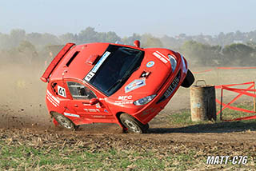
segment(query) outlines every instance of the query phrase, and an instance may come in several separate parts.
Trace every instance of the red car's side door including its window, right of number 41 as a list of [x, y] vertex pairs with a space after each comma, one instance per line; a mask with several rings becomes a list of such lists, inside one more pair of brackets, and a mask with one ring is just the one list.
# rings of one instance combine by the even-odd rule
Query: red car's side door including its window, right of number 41
[[68, 104], [69, 109], [91, 122], [112, 122], [109, 120], [113, 120], [114, 117], [101, 94], [95, 93], [81, 82], [66, 81], [66, 85], [73, 98]]

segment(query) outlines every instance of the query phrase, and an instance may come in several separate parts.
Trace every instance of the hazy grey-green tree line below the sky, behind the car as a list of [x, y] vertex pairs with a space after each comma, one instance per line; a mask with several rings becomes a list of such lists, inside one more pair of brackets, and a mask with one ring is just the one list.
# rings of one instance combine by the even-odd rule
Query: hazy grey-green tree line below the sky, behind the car
[[0, 33], [0, 58], [6, 62], [49, 61], [66, 42], [76, 44], [90, 42], [111, 42], [133, 45], [140, 40], [142, 47], [160, 47], [176, 50], [183, 54], [190, 66], [256, 66], [256, 30], [217, 36], [154, 37], [152, 34], [132, 34], [120, 38], [115, 32], [97, 32], [87, 27], [78, 34], [26, 34], [25, 30], [11, 30], [10, 34]]

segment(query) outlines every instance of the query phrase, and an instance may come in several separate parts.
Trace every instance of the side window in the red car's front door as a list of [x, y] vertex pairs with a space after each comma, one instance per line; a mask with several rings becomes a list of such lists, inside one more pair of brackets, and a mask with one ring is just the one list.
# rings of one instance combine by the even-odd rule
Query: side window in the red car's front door
[[96, 98], [94, 92], [78, 82], [67, 82], [67, 86], [69, 87], [70, 93], [74, 99]]

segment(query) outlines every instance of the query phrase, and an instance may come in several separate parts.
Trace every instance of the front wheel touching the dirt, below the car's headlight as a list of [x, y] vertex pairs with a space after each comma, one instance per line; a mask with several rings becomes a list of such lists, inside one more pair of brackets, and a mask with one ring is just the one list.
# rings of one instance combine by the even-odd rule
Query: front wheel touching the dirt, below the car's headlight
[[120, 116], [120, 121], [124, 125], [128, 132], [130, 133], [146, 133], [146, 130], [149, 128], [149, 125], [143, 125], [140, 121], [130, 116], [130, 114], [122, 113]]

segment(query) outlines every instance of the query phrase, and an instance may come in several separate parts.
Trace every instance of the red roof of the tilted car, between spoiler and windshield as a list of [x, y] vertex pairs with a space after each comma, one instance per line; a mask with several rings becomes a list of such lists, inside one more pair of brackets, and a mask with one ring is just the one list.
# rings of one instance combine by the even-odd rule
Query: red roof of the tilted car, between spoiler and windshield
[[[92, 55], [102, 56], [110, 44], [111, 43], [89, 43], [73, 46], [70, 51], [65, 54], [61, 62], [58, 63], [58, 66], [54, 69], [50, 79], [62, 79], [63, 77], [82, 80], [94, 67], [94, 65], [86, 62], [87, 59]], [[125, 46], [120, 44], [111, 45]], [[141, 48], [134, 46], [126, 47], [142, 50]]]

